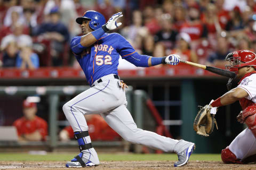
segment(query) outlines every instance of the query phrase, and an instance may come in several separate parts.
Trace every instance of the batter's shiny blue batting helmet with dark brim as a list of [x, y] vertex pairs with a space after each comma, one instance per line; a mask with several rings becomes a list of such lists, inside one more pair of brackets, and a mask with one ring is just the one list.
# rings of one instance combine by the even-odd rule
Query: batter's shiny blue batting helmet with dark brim
[[82, 24], [84, 20], [90, 20], [89, 27], [93, 30], [99, 29], [106, 23], [104, 16], [97, 11], [86, 11], [82, 17], [76, 19], [76, 22]]

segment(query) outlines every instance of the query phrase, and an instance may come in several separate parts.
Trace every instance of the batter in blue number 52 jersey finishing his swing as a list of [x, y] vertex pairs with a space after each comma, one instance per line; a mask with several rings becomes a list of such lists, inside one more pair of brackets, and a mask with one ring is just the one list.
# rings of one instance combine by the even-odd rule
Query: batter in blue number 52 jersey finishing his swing
[[182, 166], [195, 147], [185, 140], [174, 140], [154, 132], [137, 128], [127, 110], [125, 88], [117, 73], [119, 55], [136, 66], [149, 67], [158, 64], [177, 65], [178, 55], [150, 57], [138, 54], [124, 37], [118, 33], [106, 33], [122, 23], [117, 23], [122, 12], [114, 14], [106, 23], [104, 16], [96, 11], [86, 11], [76, 22], [81, 24], [83, 36], [71, 40], [71, 49], [81, 65], [91, 88], [82, 92], [63, 106], [67, 120], [72, 126], [81, 151], [66, 167], [85, 167], [99, 165], [97, 152], [94, 150], [84, 114], [101, 114], [108, 125], [127, 141], [176, 152]]

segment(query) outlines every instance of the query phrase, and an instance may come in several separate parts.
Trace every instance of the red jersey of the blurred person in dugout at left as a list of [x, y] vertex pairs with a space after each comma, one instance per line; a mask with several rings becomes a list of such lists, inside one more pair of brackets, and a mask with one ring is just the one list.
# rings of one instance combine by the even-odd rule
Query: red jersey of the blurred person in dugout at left
[[21, 117], [13, 123], [13, 126], [17, 128], [18, 135], [30, 134], [38, 130], [42, 135], [42, 139], [45, 140], [47, 132], [47, 122], [43, 118], [35, 116], [34, 120], [27, 120], [25, 117]]

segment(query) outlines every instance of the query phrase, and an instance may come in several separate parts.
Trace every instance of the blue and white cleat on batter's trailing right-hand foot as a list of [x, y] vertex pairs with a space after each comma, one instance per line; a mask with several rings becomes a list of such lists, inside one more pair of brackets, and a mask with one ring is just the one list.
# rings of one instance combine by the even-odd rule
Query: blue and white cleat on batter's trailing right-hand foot
[[178, 162], [174, 163], [174, 167], [183, 166], [188, 163], [190, 155], [193, 153], [193, 150], [196, 148], [195, 143], [192, 143], [188, 148], [182, 150], [178, 153]]

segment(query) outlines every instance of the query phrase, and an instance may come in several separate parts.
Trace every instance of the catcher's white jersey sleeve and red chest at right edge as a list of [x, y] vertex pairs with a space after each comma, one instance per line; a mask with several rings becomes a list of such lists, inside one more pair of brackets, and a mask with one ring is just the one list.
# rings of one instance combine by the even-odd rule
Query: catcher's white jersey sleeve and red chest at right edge
[[240, 80], [238, 88], [244, 89], [248, 96], [239, 100], [242, 109], [256, 103], [256, 71], [245, 74]]

